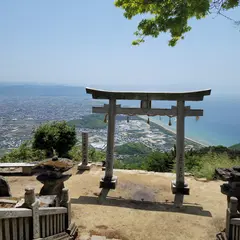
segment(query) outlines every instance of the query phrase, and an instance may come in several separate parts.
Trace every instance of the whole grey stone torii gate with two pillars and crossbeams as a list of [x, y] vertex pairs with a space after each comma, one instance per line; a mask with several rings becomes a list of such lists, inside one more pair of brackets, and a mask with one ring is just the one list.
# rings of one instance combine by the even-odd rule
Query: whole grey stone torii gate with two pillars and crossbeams
[[[108, 135], [105, 176], [100, 180], [100, 188], [115, 189], [117, 177], [113, 176], [114, 132], [116, 114], [171, 116], [177, 117], [177, 141], [176, 141], [176, 181], [172, 182], [172, 192], [176, 194], [175, 202], [182, 204], [183, 195], [189, 195], [188, 184], [184, 181], [184, 121], [185, 117], [203, 116], [203, 110], [191, 109], [185, 106], [185, 101], [202, 101], [204, 96], [211, 94], [211, 90], [194, 92], [113, 92], [86, 88], [86, 92], [93, 99], [108, 99], [109, 104], [103, 107], [93, 107], [93, 113], [108, 114]], [[140, 108], [123, 108], [117, 105], [117, 100], [140, 100]], [[152, 108], [153, 100], [176, 101], [177, 106], [167, 108]], [[177, 199], [176, 199], [177, 197]]]

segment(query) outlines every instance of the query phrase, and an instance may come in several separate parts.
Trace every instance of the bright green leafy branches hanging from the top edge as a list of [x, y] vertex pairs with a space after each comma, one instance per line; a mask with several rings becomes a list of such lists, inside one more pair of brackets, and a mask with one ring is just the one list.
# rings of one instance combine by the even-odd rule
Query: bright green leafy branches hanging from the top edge
[[238, 7], [239, 0], [115, 0], [115, 5], [124, 10], [127, 19], [143, 14], [148, 17], [138, 24], [135, 32], [138, 39], [133, 41], [133, 45], [144, 42], [146, 36], [157, 38], [160, 33], [169, 32], [169, 45], [175, 46], [191, 30], [189, 19], [201, 19], [212, 13], [220, 14], [240, 25], [240, 21], [224, 14], [224, 11]]

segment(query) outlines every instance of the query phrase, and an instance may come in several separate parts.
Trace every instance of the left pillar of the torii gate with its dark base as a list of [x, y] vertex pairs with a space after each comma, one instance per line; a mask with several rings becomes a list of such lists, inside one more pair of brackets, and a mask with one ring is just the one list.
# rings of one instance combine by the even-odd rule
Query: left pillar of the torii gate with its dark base
[[113, 176], [114, 134], [116, 118], [116, 99], [109, 99], [108, 136], [105, 176], [100, 180], [100, 188], [115, 189], [117, 177]]

